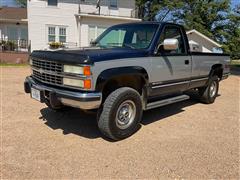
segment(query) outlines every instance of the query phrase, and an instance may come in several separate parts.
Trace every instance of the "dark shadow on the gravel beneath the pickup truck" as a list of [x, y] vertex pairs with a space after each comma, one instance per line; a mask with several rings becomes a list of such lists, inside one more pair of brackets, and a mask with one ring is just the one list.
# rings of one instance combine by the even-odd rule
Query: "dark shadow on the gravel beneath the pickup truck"
[[[156, 121], [162, 121], [167, 117], [184, 112], [183, 109], [185, 107], [197, 103], [198, 101], [194, 98], [146, 111], [143, 113], [141, 125], [146, 126]], [[63, 130], [64, 135], [75, 134], [89, 139], [103, 137], [98, 130], [96, 113], [86, 113], [74, 108], [62, 112], [54, 112], [49, 108], [43, 108], [40, 112], [42, 116], [39, 119], [43, 120], [45, 125], [53, 130]], [[140, 128], [141, 127], [139, 127], [139, 129]], [[109, 139], [106, 140], [111, 141]]]

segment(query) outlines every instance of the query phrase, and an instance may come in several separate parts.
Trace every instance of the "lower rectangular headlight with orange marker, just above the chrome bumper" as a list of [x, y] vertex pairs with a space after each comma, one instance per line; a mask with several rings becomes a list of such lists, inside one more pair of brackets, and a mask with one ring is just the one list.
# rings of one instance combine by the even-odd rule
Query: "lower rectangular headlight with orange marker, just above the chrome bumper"
[[67, 86], [80, 87], [83, 89], [91, 89], [92, 82], [91, 82], [91, 79], [80, 80], [80, 79], [63, 78], [63, 84]]

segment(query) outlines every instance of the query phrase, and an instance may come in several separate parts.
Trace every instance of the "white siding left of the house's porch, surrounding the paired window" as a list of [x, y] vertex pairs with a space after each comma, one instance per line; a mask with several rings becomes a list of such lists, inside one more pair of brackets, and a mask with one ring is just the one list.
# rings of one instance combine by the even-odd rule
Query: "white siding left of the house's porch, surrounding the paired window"
[[48, 47], [48, 26], [65, 26], [67, 42], [78, 43], [78, 29], [74, 14], [78, 6], [70, 3], [58, 3], [57, 7], [47, 6], [47, 1], [28, 1], [28, 27], [31, 49]]

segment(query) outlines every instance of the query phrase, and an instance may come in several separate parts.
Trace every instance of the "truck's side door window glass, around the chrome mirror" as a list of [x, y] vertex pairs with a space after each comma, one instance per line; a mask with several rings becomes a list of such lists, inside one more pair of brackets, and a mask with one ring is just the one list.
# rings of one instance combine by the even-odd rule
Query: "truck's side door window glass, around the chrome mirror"
[[[177, 39], [178, 40], [178, 49], [174, 51], [166, 51], [163, 48], [163, 42], [165, 39]], [[164, 54], [185, 54], [186, 53], [186, 48], [184, 46], [184, 39], [183, 35], [181, 33], [181, 29], [176, 26], [166, 26], [165, 29], [163, 30], [160, 40], [159, 40], [159, 45], [158, 45], [159, 53], [164, 53]]]

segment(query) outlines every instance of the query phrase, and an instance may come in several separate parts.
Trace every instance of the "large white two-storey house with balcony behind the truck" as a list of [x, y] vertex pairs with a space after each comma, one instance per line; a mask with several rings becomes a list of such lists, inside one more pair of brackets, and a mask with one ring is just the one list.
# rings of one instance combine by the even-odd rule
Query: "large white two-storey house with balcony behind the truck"
[[114, 24], [140, 21], [135, 14], [135, 0], [28, 0], [31, 50], [47, 49], [51, 42], [88, 46]]

